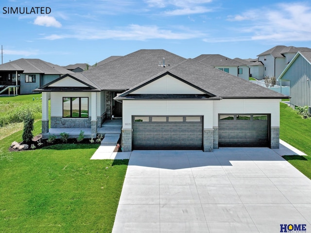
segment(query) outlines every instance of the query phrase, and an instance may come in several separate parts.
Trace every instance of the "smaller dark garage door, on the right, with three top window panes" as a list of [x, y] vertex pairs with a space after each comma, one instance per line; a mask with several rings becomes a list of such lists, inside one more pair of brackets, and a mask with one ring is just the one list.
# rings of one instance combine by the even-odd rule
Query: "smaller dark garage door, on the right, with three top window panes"
[[219, 147], [269, 147], [269, 117], [267, 114], [219, 115]]

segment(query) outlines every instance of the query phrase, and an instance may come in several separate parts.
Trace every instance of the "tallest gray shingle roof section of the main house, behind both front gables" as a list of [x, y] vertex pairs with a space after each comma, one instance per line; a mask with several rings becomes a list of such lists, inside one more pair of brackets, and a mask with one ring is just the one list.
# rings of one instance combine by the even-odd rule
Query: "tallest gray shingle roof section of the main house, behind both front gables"
[[166, 50], [138, 50], [126, 56], [82, 72], [103, 90], [126, 90], [186, 59]]

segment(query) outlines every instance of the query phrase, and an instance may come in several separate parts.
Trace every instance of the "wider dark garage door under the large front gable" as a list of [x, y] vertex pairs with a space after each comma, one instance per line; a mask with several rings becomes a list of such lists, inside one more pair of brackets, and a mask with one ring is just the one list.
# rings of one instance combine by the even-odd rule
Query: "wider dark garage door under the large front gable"
[[203, 116], [133, 116], [134, 150], [202, 150]]

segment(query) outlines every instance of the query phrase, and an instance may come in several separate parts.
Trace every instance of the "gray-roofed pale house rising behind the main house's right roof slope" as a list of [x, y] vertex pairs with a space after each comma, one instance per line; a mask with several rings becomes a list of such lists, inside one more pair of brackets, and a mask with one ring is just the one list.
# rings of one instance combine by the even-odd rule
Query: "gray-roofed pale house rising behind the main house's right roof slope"
[[238, 76], [244, 80], [249, 80], [249, 67], [239, 61], [230, 59], [220, 54], [202, 54], [194, 58], [208, 66], [220, 69], [229, 74]]

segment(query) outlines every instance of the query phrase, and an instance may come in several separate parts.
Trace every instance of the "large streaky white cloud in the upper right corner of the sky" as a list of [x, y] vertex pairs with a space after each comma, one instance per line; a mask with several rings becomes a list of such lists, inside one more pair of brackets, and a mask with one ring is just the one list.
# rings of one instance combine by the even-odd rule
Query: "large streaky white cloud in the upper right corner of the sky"
[[[232, 22], [227, 28], [228, 37], [206, 38], [206, 42], [244, 40], [286, 41], [311, 40], [311, 5], [307, 2], [282, 3], [269, 8], [251, 9], [243, 14], [228, 16]], [[229, 31], [238, 34], [230, 36]]]

